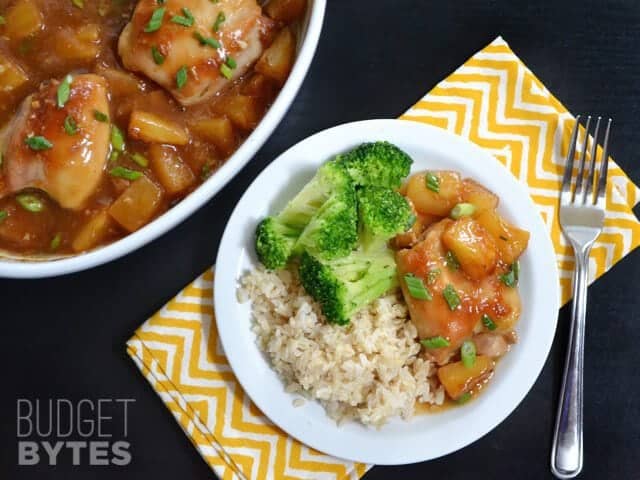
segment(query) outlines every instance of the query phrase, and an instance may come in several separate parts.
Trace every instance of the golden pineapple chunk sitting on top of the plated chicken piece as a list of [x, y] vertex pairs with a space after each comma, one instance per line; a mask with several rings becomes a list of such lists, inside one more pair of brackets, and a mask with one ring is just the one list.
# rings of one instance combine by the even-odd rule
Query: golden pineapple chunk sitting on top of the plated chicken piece
[[480, 280], [496, 268], [498, 250], [485, 228], [470, 217], [453, 222], [442, 234], [442, 243], [453, 252], [464, 273]]

